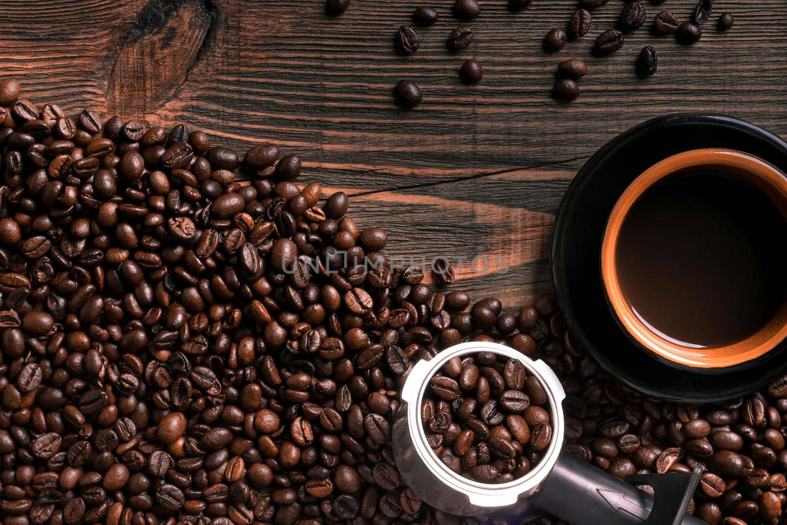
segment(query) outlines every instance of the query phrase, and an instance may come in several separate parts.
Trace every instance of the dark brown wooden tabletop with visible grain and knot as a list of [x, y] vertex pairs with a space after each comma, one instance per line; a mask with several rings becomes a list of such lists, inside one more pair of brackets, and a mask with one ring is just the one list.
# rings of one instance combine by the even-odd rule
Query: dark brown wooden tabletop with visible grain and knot
[[[719, 33], [714, 16], [691, 47], [647, 27], [661, 9], [688, 18], [693, 0], [645, 2], [646, 27], [603, 58], [589, 50], [615, 24], [619, 0], [595, 9], [589, 35], [556, 54], [541, 38], [564, 26], [575, 1], [535, 0], [521, 13], [505, 0], [481, 3], [474, 43], [451, 53], [453, 0], [353, 0], [336, 19], [323, 0], [3, 0], [0, 76], [68, 113], [91, 105], [184, 122], [238, 150], [275, 142], [305, 161], [302, 180], [357, 194], [351, 213], [362, 226], [385, 224], [389, 253], [505, 257], [507, 274], [468, 269], [453, 287], [506, 305], [549, 290], [560, 198], [615, 134], [676, 111], [787, 133], [787, 2], [718, 0], [715, 13], [734, 13], [735, 27]], [[399, 57], [393, 34], [418, 5], [437, 7], [441, 20], [419, 30], [416, 55]], [[638, 79], [646, 44], [659, 51], [659, 71]], [[468, 87], [456, 70], [470, 57], [486, 76]], [[563, 105], [549, 89], [568, 57], [588, 58], [589, 74], [578, 101]], [[412, 111], [391, 97], [404, 78], [423, 88]]]

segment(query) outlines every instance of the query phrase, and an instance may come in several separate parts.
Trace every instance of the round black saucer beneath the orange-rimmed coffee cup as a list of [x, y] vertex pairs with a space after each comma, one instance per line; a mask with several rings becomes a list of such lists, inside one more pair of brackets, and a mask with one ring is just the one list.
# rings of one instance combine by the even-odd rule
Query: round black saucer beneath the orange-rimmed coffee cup
[[744, 151], [787, 173], [787, 143], [742, 120], [697, 114], [648, 120], [612, 139], [579, 170], [563, 197], [552, 241], [556, 301], [575, 342], [621, 382], [668, 401], [724, 401], [787, 372], [787, 340], [757, 360], [728, 368], [689, 368], [658, 358], [623, 332], [604, 297], [601, 238], [623, 190], [656, 162], [708, 147]]

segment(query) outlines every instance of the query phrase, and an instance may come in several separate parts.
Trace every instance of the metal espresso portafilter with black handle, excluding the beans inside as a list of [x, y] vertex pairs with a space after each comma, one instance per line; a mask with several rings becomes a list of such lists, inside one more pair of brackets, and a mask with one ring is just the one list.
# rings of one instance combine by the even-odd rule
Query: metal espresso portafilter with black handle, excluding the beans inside
[[[522, 362], [544, 387], [552, 418], [552, 441], [538, 464], [511, 482], [490, 484], [450, 470], [427, 442], [420, 407], [431, 378], [453, 357], [495, 353]], [[540, 508], [572, 525], [703, 525], [685, 515], [701, 472], [615, 478], [561, 452], [565, 432], [560, 380], [544, 361], [493, 342], [466, 342], [419, 361], [402, 389], [393, 424], [393, 454], [405, 483], [427, 504], [456, 516], [488, 516], [498, 511], [527, 516]], [[637, 485], [652, 486], [655, 494]]]

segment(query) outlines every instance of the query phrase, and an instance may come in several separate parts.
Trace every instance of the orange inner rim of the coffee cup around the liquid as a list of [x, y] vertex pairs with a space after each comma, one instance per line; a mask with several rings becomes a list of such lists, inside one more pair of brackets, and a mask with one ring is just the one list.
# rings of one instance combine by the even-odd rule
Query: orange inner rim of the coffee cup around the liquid
[[[660, 337], [649, 329], [623, 297], [615, 266], [620, 228], [631, 206], [661, 180], [698, 169], [713, 169], [741, 177], [759, 187], [787, 219], [787, 177], [766, 161], [735, 150], [691, 150], [668, 157], [643, 172], [615, 203], [601, 243], [601, 276], [611, 308], [629, 335], [660, 357], [694, 368], [724, 368], [756, 359], [787, 338], [787, 301], [754, 335], [727, 346], [689, 348]], [[774, 239], [787, 242], [787, 239]], [[666, 307], [666, 305], [665, 305]]]

